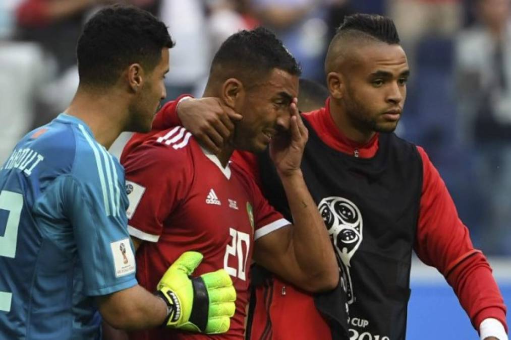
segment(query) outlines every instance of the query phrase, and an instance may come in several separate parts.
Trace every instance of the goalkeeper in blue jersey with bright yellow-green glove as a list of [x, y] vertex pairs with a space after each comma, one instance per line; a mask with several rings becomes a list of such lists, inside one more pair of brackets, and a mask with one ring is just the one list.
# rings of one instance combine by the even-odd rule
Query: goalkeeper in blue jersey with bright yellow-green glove
[[98, 12], [78, 41], [71, 105], [0, 169], [0, 339], [98, 339], [101, 317], [123, 329], [228, 329], [235, 290], [223, 270], [189, 277], [199, 253], [174, 262], [156, 295], [137, 285], [124, 169], [106, 151], [122, 131], [150, 130], [172, 46], [145, 11]]

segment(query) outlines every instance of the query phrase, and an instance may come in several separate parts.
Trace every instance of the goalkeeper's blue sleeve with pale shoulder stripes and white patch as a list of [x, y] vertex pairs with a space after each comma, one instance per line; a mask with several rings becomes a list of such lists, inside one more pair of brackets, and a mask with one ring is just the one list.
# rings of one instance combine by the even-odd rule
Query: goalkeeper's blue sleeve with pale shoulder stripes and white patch
[[[82, 262], [85, 294], [106, 295], [136, 284], [127, 231], [124, 169], [80, 126], [64, 210]], [[82, 137], [82, 138], [80, 138]]]

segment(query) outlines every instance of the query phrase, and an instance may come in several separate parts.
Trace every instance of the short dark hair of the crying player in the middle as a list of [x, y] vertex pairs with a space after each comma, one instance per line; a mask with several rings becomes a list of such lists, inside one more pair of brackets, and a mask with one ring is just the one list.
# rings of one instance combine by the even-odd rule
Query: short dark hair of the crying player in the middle
[[282, 41], [271, 31], [258, 27], [235, 33], [222, 43], [213, 58], [210, 77], [217, 69], [229, 78], [249, 74], [261, 77], [274, 68], [301, 75], [300, 66]]

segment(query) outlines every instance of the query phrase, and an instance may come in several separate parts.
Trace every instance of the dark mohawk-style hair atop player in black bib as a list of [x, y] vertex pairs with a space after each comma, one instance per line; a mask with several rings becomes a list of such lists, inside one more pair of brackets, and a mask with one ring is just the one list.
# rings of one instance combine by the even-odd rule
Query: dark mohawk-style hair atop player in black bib
[[399, 44], [399, 35], [396, 25], [391, 18], [377, 14], [353, 14], [344, 18], [337, 29], [337, 35], [344, 32], [358, 31], [388, 44]]

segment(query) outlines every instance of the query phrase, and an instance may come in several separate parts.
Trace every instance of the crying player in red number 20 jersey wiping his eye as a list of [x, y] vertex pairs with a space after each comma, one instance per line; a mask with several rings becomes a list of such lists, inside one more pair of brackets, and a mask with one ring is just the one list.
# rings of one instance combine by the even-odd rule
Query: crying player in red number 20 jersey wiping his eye
[[[235, 315], [225, 334], [160, 329], [132, 333], [132, 339], [243, 339], [252, 258], [309, 292], [337, 285], [330, 238], [300, 170], [308, 131], [296, 109], [299, 74], [296, 61], [271, 32], [236, 33], [215, 55], [204, 92], [243, 116], [223, 148], [208, 152], [182, 127], [135, 135], [128, 143], [121, 161], [138, 281], [155, 289], [168, 264], [194, 250], [204, 255], [196, 275], [223, 268], [237, 290]], [[268, 145], [293, 225], [229, 161], [235, 150], [260, 152]]]

